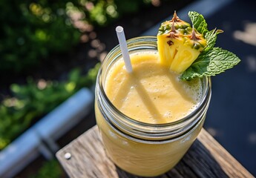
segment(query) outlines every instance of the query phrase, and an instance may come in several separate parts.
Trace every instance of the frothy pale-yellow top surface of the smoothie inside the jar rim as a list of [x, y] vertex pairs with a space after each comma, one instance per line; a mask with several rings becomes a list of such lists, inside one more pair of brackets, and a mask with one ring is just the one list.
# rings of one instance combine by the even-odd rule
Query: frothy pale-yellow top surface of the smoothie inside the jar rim
[[131, 54], [133, 72], [123, 60], [111, 68], [105, 93], [126, 116], [140, 122], [162, 124], [177, 121], [197, 107], [202, 88], [200, 80], [181, 81], [160, 63], [157, 52]]

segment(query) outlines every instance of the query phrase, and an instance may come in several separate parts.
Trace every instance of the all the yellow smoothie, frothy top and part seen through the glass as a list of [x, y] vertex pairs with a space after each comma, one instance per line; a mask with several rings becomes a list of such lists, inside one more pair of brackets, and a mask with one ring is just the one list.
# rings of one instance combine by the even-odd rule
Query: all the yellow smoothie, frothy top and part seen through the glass
[[[202, 98], [200, 79], [182, 82], [161, 65], [157, 50], [131, 53], [133, 73], [127, 73], [122, 59], [108, 69], [102, 84], [106, 96], [131, 119], [148, 124], [165, 124], [184, 118]], [[125, 171], [153, 177], [174, 167], [196, 139], [205, 119], [171, 141], [140, 140], [117, 131], [105, 120], [96, 102], [96, 122], [108, 156]]]

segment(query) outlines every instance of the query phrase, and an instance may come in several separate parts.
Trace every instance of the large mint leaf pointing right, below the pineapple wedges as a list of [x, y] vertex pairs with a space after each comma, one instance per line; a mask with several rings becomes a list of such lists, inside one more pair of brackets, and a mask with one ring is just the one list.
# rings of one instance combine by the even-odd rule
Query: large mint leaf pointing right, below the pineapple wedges
[[195, 77], [215, 76], [225, 70], [234, 67], [240, 59], [234, 53], [213, 47], [211, 50], [203, 51], [180, 76], [183, 80], [191, 80]]

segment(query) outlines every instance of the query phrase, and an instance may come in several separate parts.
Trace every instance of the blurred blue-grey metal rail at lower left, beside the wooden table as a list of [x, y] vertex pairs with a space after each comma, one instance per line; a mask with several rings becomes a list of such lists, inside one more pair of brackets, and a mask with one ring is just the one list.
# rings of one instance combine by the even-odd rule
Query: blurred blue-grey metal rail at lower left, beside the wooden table
[[82, 88], [36, 122], [0, 152], [0, 177], [13, 177], [40, 154], [53, 158], [59, 150], [56, 140], [78, 124], [93, 106], [93, 93]]

